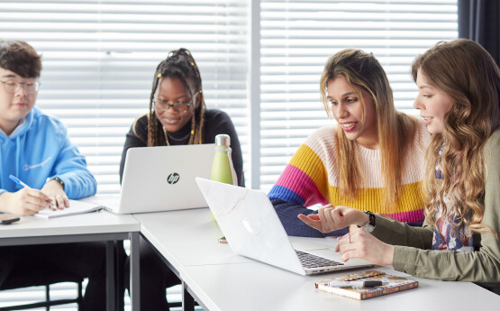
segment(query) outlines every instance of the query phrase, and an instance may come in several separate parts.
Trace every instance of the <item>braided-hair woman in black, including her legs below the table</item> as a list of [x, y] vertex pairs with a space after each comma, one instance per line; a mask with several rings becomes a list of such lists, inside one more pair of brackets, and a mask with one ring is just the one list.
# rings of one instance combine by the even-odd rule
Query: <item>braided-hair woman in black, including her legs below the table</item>
[[[229, 115], [205, 108], [202, 79], [195, 59], [189, 50], [173, 50], [159, 63], [154, 74], [149, 113], [139, 116], [127, 133], [120, 181], [129, 148], [213, 143], [220, 133], [231, 137], [232, 163], [238, 185], [244, 187], [240, 141]], [[149, 243], [141, 239], [141, 310], [168, 310], [165, 288], [179, 282]]]

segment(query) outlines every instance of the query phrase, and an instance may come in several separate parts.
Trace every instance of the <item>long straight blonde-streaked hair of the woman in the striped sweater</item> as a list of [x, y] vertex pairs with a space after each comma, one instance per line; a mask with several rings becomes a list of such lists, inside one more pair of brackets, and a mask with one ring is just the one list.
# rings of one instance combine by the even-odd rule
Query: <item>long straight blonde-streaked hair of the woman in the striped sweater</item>
[[[383, 209], [394, 210], [401, 194], [401, 172], [405, 165], [405, 154], [414, 143], [419, 121], [395, 110], [393, 92], [389, 86], [386, 72], [372, 55], [363, 50], [346, 49], [337, 52], [327, 60], [320, 79], [320, 94], [324, 109], [332, 118], [327, 85], [335, 78], [345, 78], [354, 88], [364, 108], [366, 106], [362, 92], [368, 93], [375, 104], [378, 145], [381, 152], [381, 171], [384, 180], [382, 197]], [[359, 165], [356, 143], [350, 141], [338, 125], [336, 140], [336, 165], [339, 168], [339, 188], [341, 196], [355, 199], [363, 184], [363, 175]]]

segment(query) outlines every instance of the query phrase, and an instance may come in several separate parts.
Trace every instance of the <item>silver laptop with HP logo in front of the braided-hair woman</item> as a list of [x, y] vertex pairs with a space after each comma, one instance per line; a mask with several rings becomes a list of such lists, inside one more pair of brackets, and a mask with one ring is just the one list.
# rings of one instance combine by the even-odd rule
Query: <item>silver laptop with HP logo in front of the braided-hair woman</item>
[[206, 207], [195, 177], [210, 178], [214, 153], [214, 143], [131, 148], [120, 197], [98, 201], [116, 214]]

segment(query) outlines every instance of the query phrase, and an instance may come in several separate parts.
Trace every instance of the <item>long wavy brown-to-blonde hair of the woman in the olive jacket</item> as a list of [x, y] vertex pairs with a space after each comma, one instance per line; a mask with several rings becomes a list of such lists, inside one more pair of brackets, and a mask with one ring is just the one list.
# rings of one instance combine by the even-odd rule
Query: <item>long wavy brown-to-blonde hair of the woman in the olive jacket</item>
[[[425, 216], [433, 225], [443, 217], [455, 216], [456, 223], [450, 224], [454, 229], [465, 224], [471, 232], [494, 233], [482, 224], [486, 179], [483, 149], [499, 126], [498, 66], [479, 44], [459, 39], [441, 41], [418, 56], [412, 65], [414, 81], [419, 69], [454, 103], [445, 115], [443, 132], [432, 135], [425, 156]], [[444, 151], [439, 157], [441, 146]], [[434, 177], [438, 158], [443, 179]], [[454, 202], [452, 210], [447, 210], [445, 197]], [[439, 206], [443, 210], [436, 219]]]

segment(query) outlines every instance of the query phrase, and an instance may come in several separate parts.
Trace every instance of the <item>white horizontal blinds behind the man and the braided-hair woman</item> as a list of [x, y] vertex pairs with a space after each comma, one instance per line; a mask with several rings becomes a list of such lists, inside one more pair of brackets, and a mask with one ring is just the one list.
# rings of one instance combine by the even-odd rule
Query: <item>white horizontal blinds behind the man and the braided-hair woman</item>
[[119, 191], [125, 134], [148, 111], [156, 66], [191, 50], [208, 108], [232, 116], [248, 160], [248, 3], [213, 1], [2, 1], [0, 38], [41, 52], [37, 105], [68, 125], [98, 182]]

